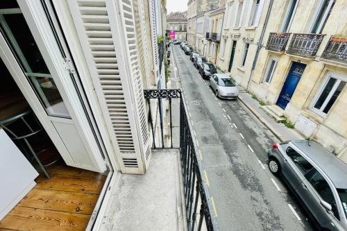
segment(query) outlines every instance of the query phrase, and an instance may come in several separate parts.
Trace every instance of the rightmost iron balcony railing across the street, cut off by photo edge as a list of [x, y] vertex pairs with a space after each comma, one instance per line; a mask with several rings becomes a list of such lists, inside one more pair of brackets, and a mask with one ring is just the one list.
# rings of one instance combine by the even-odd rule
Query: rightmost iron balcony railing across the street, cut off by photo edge
[[330, 37], [321, 58], [347, 62], [347, 37]]

